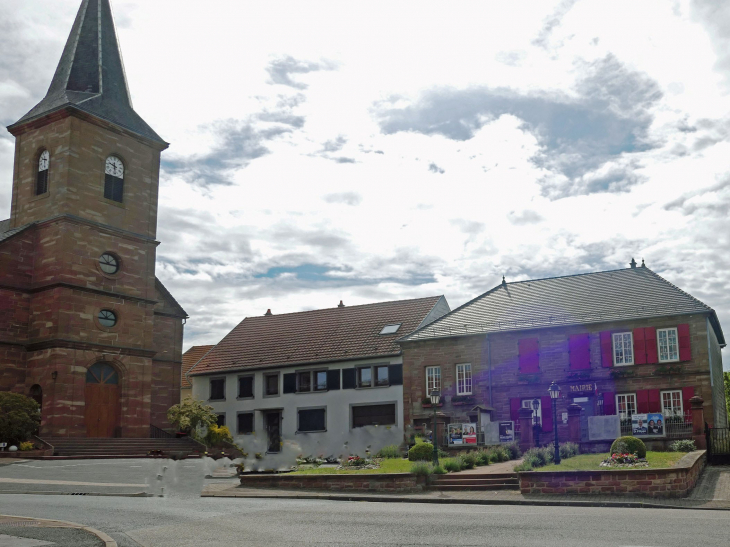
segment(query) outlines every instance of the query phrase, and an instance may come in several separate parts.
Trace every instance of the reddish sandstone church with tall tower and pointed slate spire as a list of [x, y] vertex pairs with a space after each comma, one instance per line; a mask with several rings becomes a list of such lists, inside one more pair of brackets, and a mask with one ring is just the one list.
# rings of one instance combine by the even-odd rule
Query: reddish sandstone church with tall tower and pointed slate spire
[[0, 222], [0, 390], [41, 435], [147, 437], [179, 402], [185, 311], [155, 276], [160, 154], [134, 111], [109, 0], [83, 0], [15, 136]]

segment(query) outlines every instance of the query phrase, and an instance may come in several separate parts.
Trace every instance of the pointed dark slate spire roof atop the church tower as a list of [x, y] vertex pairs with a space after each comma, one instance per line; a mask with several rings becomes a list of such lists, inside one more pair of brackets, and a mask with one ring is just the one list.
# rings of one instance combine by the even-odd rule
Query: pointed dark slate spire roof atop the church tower
[[132, 108], [109, 0], [83, 0], [48, 93], [8, 129], [68, 107], [167, 144]]

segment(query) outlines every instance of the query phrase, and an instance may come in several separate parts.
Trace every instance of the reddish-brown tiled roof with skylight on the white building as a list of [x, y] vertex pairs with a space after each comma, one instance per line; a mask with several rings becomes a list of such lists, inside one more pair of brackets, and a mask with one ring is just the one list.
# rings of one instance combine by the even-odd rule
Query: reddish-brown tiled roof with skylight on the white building
[[[191, 374], [400, 355], [395, 341], [418, 328], [441, 298], [247, 317]], [[380, 334], [393, 323], [402, 323], [398, 332]]]

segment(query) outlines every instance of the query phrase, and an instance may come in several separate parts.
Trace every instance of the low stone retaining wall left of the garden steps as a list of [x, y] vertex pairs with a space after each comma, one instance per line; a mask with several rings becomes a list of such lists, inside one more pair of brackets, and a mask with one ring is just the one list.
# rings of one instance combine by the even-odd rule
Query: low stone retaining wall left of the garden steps
[[373, 473], [369, 475], [243, 475], [247, 488], [284, 488], [329, 491], [420, 492], [426, 478], [410, 473]]

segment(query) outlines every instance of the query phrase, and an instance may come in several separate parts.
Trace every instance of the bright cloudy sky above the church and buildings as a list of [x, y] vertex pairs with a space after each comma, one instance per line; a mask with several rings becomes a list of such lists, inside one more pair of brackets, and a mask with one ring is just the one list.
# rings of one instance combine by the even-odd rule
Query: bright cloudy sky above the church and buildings
[[[0, 123], [79, 0], [0, 0]], [[628, 267], [730, 333], [730, 3], [114, 0], [185, 348], [244, 317]], [[0, 132], [0, 218], [14, 140]], [[726, 359], [727, 360], [727, 359]], [[725, 368], [728, 368], [726, 363]]]

